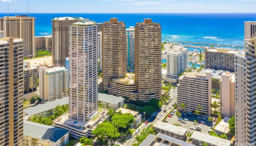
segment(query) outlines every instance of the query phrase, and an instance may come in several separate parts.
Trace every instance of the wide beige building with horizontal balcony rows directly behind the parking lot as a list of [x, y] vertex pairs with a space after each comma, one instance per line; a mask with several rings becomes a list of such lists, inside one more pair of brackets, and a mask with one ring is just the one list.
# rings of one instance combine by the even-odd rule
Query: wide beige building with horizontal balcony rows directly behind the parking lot
[[[207, 70], [206, 73], [184, 73], [179, 77], [178, 108], [184, 111], [196, 111], [197, 106], [201, 105], [200, 112], [211, 116], [211, 80], [212, 72]], [[181, 103], [186, 107], [181, 108]]]

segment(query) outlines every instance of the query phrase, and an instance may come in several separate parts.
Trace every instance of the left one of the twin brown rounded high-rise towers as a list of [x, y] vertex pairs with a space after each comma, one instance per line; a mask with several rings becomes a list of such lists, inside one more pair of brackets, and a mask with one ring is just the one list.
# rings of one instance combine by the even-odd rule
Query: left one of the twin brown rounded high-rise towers
[[110, 18], [102, 26], [102, 82], [108, 89], [112, 78], [126, 74], [126, 28], [117, 18]]

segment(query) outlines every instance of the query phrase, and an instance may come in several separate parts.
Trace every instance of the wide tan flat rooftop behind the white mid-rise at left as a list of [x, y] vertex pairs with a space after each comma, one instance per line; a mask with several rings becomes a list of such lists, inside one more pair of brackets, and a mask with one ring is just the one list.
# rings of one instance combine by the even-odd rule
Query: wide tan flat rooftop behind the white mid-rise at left
[[52, 65], [52, 56], [26, 59], [24, 61], [29, 61], [31, 66]]

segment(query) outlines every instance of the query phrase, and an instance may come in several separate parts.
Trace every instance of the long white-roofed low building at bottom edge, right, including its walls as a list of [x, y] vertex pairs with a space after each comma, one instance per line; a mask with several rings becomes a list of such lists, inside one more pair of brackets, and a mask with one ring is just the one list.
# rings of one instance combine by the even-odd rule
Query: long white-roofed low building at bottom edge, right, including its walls
[[207, 143], [207, 146], [230, 146], [230, 141], [218, 138], [209, 134], [194, 131], [191, 135], [192, 143], [197, 146], [202, 146], [203, 143]]

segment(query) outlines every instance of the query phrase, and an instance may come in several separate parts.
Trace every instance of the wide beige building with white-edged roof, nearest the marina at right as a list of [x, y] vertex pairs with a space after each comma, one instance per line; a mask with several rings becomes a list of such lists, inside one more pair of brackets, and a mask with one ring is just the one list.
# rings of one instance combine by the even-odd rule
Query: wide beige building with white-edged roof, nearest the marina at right
[[234, 72], [234, 55], [240, 53], [228, 49], [205, 48], [205, 68]]

